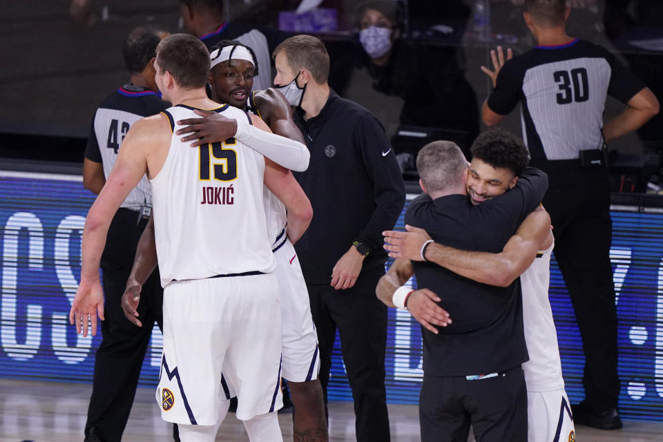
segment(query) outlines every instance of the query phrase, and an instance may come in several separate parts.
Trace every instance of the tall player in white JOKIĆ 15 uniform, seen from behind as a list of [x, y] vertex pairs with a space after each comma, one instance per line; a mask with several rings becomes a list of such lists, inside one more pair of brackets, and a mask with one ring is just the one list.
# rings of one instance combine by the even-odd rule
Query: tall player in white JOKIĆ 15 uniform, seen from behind
[[175, 121], [195, 115], [195, 108], [269, 131], [260, 118], [206, 97], [209, 52], [198, 39], [164, 39], [155, 68], [157, 86], [175, 106], [132, 126], [88, 213], [70, 322], [86, 335], [88, 320], [93, 334], [97, 313], [103, 320], [98, 267], [108, 224], [148, 173], [164, 286], [157, 389], [162, 417], [179, 424], [182, 441], [213, 441], [227, 412], [221, 397], [231, 388], [240, 399], [236, 415], [249, 439], [282, 441], [275, 413], [281, 406], [280, 309], [262, 183], [287, 198], [291, 181], [240, 140], [191, 149], [173, 135]]

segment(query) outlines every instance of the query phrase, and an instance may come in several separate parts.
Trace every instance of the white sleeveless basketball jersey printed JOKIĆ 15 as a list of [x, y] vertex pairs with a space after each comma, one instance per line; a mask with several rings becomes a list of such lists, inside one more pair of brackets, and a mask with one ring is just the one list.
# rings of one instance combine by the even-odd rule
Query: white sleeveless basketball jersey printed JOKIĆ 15
[[[249, 118], [238, 108], [215, 111]], [[175, 122], [195, 118], [193, 108], [173, 106]], [[249, 119], [250, 121], [250, 119]], [[276, 267], [262, 203], [265, 159], [231, 138], [192, 148], [173, 135], [162, 170], [151, 180], [155, 240], [162, 286], [171, 280], [261, 271]]]

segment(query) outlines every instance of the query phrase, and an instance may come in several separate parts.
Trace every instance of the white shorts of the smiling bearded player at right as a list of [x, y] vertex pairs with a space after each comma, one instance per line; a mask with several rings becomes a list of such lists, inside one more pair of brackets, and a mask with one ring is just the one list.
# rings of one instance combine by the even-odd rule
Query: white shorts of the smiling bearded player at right
[[575, 442], [571, 406], [564, 388], [527, 392], [527, 428], [530, 442]]

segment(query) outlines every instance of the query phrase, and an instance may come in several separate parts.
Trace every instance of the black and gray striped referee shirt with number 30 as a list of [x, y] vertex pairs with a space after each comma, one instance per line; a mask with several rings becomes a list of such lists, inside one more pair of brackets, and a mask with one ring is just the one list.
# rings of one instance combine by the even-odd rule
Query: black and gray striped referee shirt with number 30
[[523, 140], [535, 160], [573, 160], [602, 148], [606, 95], [628, 102], [644, 84], [608, 50], [574, 39], [537, 46], [504, 64], [488, 107], [507, 115], [521, 102]]

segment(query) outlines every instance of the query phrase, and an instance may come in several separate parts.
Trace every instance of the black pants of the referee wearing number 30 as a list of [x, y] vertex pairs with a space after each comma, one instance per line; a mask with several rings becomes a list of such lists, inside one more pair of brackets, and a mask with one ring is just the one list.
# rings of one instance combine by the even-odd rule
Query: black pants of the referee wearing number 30
[[544, 206], [553, 222], [555, 258], [582, 336], [586, 404], [599, 412], [608, 410], [619, 398], [608, 170], [583, 169], [577, 160], [532, 166], [548, 173]]

